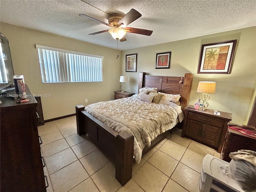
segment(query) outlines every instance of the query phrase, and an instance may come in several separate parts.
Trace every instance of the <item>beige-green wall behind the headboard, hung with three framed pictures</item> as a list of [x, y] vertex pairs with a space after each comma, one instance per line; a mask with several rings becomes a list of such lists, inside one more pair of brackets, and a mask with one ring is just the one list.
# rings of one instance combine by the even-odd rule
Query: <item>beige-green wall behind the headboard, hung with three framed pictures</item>
[[[230, 74], [197, 74], [202, 44], [234, 39], [237, 44]], [[170, 69], [155, 69], [156, 53], [168, 51], [172, 52]], [[137, 72], [125, 72], [126, 54], [134, 53], [138, 53]], [[138, 72], [161, 76], [193, 73], [189, 104], [200, 95], [196, 92], [199, 81], [216, 81], [216, 93], [210, 94], [208, 108], [230, 112], [233, 123], [247, 124], [255, 95], [256, 27], [122, 51], [121, 74], [128, 76], [127, 91], [138, 92]]]

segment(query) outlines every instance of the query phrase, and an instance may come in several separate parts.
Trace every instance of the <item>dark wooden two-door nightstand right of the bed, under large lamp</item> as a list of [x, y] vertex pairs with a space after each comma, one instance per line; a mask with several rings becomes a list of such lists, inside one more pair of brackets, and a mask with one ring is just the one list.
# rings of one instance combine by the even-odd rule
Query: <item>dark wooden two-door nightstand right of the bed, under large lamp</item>
[[232, 119], [232, 114], [218, 111], [220, 115], [217, 115], [212, 109], [200, 111], [194, 109], [192, 105], [187, 106], [184, 110], [181, 136], [210, 146], [220, 153], [228, 129], [227, 124]]

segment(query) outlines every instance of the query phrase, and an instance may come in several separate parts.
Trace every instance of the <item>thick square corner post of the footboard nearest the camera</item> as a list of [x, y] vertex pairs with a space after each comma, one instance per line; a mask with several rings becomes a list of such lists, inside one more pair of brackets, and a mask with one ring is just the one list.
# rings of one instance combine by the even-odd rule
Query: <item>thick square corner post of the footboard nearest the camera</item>
[[132, 178], [134, 136], [120, 133], [116, 136], [116, 179], [124, 186]]

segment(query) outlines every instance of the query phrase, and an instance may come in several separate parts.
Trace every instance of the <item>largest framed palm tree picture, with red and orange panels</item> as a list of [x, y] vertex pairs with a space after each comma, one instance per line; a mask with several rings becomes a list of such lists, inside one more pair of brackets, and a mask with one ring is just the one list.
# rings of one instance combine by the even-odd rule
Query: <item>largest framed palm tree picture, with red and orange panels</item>
[[203, 44], [197, 73], [230, 74], [236, 40]]

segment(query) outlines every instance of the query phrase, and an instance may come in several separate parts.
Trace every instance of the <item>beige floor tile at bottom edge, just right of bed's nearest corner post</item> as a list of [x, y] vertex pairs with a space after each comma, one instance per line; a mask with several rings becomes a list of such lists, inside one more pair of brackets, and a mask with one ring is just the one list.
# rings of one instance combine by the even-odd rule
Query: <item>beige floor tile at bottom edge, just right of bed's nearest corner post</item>
[[148, 162], [142, 165], [132, 178], [146, 192], [162, 191], [168, 181], [168, 177], [165, 174]]

